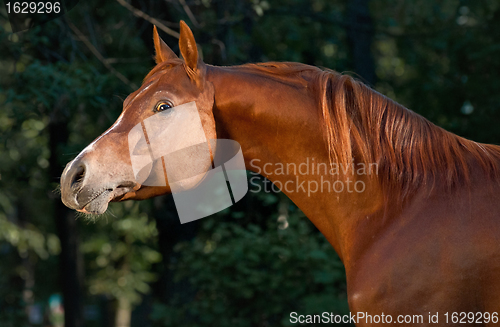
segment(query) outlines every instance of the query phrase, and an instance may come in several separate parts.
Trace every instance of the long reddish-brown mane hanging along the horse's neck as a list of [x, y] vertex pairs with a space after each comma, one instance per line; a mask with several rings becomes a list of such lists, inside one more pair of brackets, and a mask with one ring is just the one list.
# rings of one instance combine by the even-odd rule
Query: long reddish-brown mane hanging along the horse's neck
[[298, 63], [239, 67], [286, 83], [307, 80], [323, 116], [330, 161], [376, 163], [383, 184], [400, 185], [403, 194], [437, 181], [449, 188], [469, 183], [473, 167], [500, 175], [500, 147], [450, 133], [351, 76]]

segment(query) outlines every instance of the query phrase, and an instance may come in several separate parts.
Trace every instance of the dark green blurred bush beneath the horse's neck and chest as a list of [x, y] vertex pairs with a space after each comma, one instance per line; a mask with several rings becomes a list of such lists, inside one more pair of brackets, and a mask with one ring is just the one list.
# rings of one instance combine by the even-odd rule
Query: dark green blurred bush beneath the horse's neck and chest
[[291, 210], [285, 229], [276, 215], [264, 227], [206, 218], [197, 238], [176, 246], [179, 259], [171, 263], [190, 298], [174, 294], [169, 305], [155, 305], [151, 318], [159, 326], [286, 326], [292, 311], [348, 313], [340, 260]]

